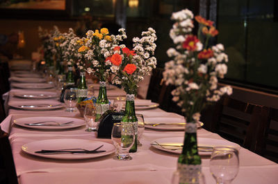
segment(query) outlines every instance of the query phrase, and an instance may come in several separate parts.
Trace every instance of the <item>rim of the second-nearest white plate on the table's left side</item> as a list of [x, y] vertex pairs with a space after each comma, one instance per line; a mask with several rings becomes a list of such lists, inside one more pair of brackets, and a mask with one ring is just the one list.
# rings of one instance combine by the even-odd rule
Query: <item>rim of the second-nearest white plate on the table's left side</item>
[[62, 117], [62, 116], [35, 116], [35, 117], [22, 117], [22, 118], [17, 118], [15, 120], [13, 120], [13, 123], [15, 123], [15, 125], [18, 125], [20, 127], [25, 127], [25, 128], [29, 128], [29, 129], [40, 129], [40, 130], [60, 130], [60, 129], [75, 129], [78, 127], [82, 127], [83, 125], [85, 125], [85, 120], [81, 120], [83, 121], [83, 124], [80, 125], [74, 125], [74, 126], [69, 126], [69, 127], [54, 127], [54, 126], [28, 126], [28, 125], [21, 125], [18, 122], [15, 122], [16, 120], [20, 120], [20, 119], [27, 119], [27, 118], [68, 118], [70, 120], [72, 119], [76, 119], [76, 120], [81, 120], [79, 118], [71, 118], [71, 117]]

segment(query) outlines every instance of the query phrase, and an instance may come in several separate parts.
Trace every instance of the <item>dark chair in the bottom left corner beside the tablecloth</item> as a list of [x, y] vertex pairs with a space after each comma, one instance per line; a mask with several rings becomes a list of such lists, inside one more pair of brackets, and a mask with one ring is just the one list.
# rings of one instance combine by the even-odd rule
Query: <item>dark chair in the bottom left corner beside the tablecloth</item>
[[17, 174], [15, 172], [15, 163], [8, 140], [8, 134], [0, 129], [0, 183], [17, 184]]

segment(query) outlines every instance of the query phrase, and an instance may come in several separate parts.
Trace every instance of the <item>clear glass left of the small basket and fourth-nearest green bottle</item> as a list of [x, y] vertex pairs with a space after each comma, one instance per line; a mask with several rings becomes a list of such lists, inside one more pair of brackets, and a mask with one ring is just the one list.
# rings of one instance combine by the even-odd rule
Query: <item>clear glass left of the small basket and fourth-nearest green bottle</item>
[[77, 90], [73, 88], [66, 89], [64, 94], [64, 102], [66, 105], [65, 111], [76, 111]]

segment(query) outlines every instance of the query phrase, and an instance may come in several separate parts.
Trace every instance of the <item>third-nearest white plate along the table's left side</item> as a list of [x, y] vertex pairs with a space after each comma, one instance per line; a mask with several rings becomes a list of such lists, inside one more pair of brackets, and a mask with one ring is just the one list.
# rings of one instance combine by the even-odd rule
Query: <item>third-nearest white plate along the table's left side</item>
[[24, 109], [30, 111], [45, 111], [45, 110], [54, 110], [64, 107], [64, 104], [60, 102], [47, 102], [41, 100], [33, 101], [12, 101], [9, 102], [10, 107], [15, 107], [17, 109]]

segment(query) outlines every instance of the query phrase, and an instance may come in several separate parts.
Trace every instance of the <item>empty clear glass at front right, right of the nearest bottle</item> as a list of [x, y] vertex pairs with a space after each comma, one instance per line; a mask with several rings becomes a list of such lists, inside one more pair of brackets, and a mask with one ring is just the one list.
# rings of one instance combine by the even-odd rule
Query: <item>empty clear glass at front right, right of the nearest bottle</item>
[[238, 174], [238, 150], [232, 147], [214, 147], [210, 169], [216, 183], [231, 183]]

